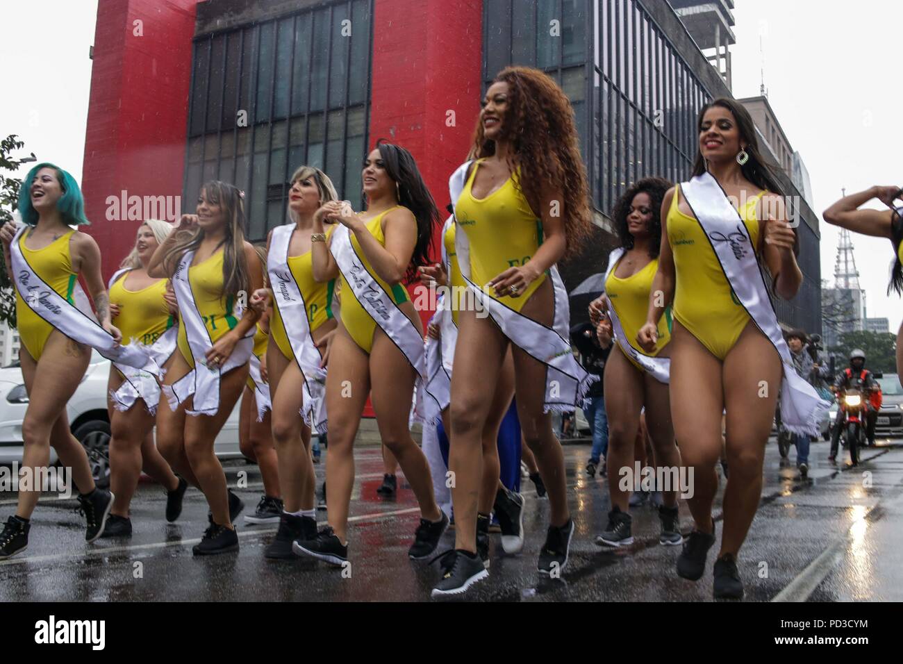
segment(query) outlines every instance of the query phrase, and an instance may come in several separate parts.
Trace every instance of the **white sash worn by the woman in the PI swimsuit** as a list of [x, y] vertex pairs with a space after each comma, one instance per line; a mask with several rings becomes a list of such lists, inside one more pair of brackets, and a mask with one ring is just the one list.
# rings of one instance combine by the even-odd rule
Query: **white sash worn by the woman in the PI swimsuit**
[[185, 412], [191, 416], [213, 416], [219, 410], [219, 379], [223, 374], [240, 367], [250, 359], [252, 351], [254, 351], [255, 331], [252, 327], [247, 335], [238, 341], [235, 350], [232, 351], [223, 366], [208, 366], [206, 352], [213, 345], [213, 341], [210, 341], [207, 326], [204, 325], [198, 307], [194, 304], [194, 295], [191, 293], [188, 270], [193, 257], [194, 251], [188, 251], [179, 261], [179, 266], [172, 275], [172, 290], [175, 291], [175, 297], [179, 303], [181, 324], [185, 326], [195, 368], [172, 385], [163, 385], [163, 394], [172, 410], [193, 395], [194, 409]]

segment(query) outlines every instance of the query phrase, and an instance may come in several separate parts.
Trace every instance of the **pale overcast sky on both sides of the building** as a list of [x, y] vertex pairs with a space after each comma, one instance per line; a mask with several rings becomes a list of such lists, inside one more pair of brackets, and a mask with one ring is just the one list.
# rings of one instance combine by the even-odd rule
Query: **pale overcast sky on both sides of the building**
[[[0, 104], [0, 132], [19, 134], [28, 151], [79, 182], [97, 6], [97, 0], [43, 0], [7, 2], [0, 10], [16, 28], [0, 41], [0, 61], [12, 65], [13, 93]], [[734, 15], [734, 95], [759, 94], [761, 35], [768, 101], [803, 155], [815, 211], [820, 215], [840, 198], [843, 187], [903, 186], [903, 2], [736, 0]], [[837, 232], [824, 222], [821, 229], [822, 277], [833, 282]], [[896, 332], [903, 309], [896, 295], [885, 295], [890, 244], [860, 236], [853, 244], [868, 314], [889, 318]]]

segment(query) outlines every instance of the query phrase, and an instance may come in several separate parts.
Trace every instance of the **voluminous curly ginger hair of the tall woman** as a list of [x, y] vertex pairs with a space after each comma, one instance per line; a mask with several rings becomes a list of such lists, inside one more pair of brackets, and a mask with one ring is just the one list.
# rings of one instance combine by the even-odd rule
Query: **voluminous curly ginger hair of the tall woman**
[[[534, 212], [542, 209], [544, 189], [561, 192], [565, 256], [572, 256], [590, 235], [591, 210], [571, 101], [545, 72], [531, 67], [507, 67], [492, 82], [500, 81], [508, 85], [501, 138], [513, 148], [508, 167], [517, 173], [515, 186]], [[485, 136], [478, 118], [469, 158], [493, 154], [496, 142]]]

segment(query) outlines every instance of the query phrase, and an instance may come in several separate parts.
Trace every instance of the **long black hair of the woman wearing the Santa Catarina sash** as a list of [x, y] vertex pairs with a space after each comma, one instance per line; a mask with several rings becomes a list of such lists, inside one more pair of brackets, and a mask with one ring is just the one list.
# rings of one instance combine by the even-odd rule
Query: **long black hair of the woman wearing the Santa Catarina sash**
[[417, 268], [428, 265], [430, 257], [427, 251], [433, 242], [434, 229], [442, 223], [439, 210], [433, 201], [433, 194], [426, 187], [414, 156], [401, 145], [387, 143], [380, 138], [377, 141], [379, 158], [383, 160], [386, 173], [396, 182], [398, 204], [414, 213], [417, 220], [417, 244], [414, 254], [405, 272], [405, 281], [413, 281], [417, 276]]

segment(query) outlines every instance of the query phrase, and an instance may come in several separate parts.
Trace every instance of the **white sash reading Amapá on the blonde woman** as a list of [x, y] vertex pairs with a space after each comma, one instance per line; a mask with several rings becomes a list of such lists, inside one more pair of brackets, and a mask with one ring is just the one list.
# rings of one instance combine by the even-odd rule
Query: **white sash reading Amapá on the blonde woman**
[[315, 432], [325, 434], [326, 371], [320, 367], [320, 351], [317, 351], [311, 335], [307, 304], [291, 268], [288, 267], [288, 252], [294, 228], [294, 224], [286, 224], [273, 229], [266, 271], [270, 277], [274, 305], [282, 316], [294, 360], [304, 379], [301, 415]]

